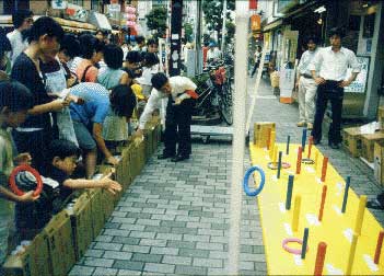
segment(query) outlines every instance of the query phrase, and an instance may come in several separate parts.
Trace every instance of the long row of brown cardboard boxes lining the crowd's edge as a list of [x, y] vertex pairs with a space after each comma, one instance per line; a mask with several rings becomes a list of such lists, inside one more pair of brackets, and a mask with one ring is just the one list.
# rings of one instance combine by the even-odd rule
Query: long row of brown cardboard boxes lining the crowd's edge
[[97, 168], [103, 175], [115, 172], [115, 180], [123, 186], [121, 193], [113, 195], [96, 188], [80, 193], [65, 210], [53, 217], [28, 246], [7, 258], [3, 265], [5, 275], [67, 275], [98, 235], [123, 193], [155, 151], [160, 134], [160, 120], [154, 117], [147, 126], [144, 140], [128, 141], [120, 149], [120, 161], [115, 168], [106, 164]]

